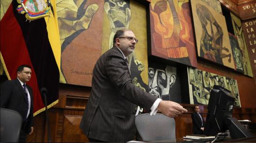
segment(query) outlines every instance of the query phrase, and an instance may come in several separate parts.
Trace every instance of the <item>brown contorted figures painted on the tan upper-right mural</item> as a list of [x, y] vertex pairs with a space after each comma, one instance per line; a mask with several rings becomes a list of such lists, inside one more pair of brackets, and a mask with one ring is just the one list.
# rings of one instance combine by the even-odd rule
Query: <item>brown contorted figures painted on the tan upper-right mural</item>
[[[202, 25], [200, 57], [209, 59], [222, 65], [222, 58], [229, 58], [228, 62], [231, 63], [231, 53], [229, 49], [222, 46], [222, 27], [217, 23], [207, 7], [197, 3], [196, 13]], [[228, 52], [229, 54], [225, 54], [223, 51]]]

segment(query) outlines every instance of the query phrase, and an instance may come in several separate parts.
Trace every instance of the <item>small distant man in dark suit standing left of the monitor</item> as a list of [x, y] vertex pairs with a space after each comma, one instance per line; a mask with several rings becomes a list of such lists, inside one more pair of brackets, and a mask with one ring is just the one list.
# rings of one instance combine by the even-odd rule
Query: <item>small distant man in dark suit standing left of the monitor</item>
[[204, 130], [204, 119], [200, 114], [200, 108], [195, 105], [195, 111], [192, 113], [193, 132], [194, 134], [202, 135]]

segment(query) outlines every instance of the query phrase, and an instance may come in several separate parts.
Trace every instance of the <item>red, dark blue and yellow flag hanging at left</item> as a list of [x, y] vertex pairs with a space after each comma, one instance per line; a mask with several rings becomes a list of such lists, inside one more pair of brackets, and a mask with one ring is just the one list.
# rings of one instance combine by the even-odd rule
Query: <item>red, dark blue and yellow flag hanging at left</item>
[[[17, 0], [1, 0], [0, 58], [8, 79], [17, 78], [19, 65], [32, 67], [34, 116], [45, 110], [40, 89], [47, 88], [47, 107], [58, 103], [61, 45], [55, 0], [50, 17], [29, 21], [17, 12]], [[54, 13], [53, 13], [54, 12]]]

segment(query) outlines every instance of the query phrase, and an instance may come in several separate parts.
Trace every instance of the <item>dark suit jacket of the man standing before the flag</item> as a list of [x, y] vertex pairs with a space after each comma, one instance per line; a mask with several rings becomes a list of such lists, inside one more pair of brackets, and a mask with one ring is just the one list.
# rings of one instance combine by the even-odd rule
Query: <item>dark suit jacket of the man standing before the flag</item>
[[[30, 94], [31, 105], [30, 113], [27, 117], [27, 95], [23, 90], [20, 81], [16, 78], [14, 80], [7, 80], [1, 84], [1, 108], [7, 108], [11, 110], [16, 110], [23, 117], [22, 129], [26, 130], [28, 134], [30, 128], [33, 126], [33, 92], [30, 86], [27, 86], [27, 90]], [[27, 120], [24, 121], [24, 119]]]

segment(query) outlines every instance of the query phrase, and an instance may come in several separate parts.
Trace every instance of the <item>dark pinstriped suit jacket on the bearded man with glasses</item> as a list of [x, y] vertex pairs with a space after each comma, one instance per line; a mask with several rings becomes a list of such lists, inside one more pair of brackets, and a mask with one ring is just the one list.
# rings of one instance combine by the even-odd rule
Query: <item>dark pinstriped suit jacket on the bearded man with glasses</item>
[[127, 142], [135, 137], [135, 104], [150, 110], [157, 98], [132, 84], [117, 47], [105, 52], [93, 70], [90, 98], [80, 128], [89, 137]]

